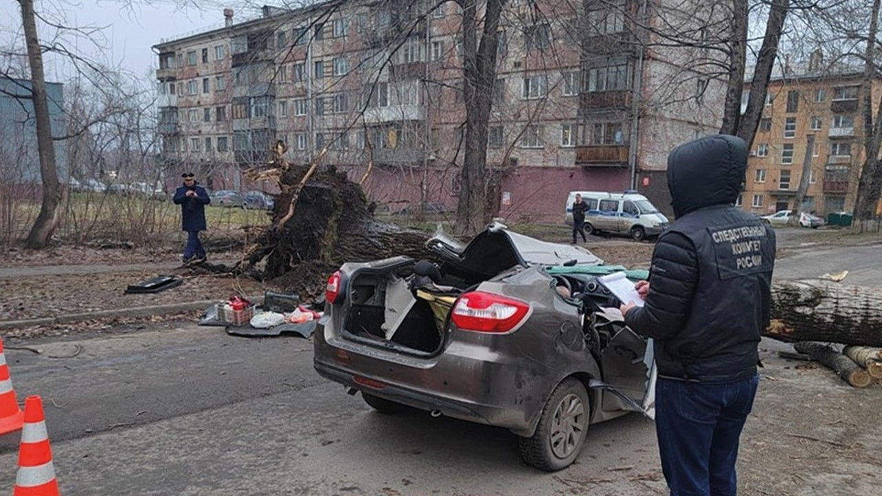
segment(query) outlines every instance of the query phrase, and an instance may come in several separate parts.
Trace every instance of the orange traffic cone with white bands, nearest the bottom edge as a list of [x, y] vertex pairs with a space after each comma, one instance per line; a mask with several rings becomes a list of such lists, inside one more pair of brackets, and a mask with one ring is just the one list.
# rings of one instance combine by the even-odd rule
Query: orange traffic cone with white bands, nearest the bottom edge
[[15, 491], [12, 496], [59, 496], [40, 396], [28, 396], [25, 400], [25, 428], [21, 431], [19, 473], [15, 476]]

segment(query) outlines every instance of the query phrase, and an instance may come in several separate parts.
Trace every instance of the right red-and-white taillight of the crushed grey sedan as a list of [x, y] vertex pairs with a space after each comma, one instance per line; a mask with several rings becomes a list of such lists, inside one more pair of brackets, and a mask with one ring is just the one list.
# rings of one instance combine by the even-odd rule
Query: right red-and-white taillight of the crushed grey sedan
[[472, 291], [457, 300], [451, 319], [464, 331], [507, 333], [523, 323], [529, 312], [530, 304], [520, 300]]

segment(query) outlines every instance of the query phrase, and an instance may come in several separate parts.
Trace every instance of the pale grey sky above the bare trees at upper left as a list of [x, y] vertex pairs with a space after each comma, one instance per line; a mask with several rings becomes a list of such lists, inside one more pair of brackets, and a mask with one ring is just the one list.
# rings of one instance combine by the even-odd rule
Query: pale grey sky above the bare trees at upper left
[[[274, 2], [267, 2], [273, 4]], [[243, 0], [189, 0], [181, 6], [176, 0], [37, 0], [38, 12], [53, 21], [74, 26], [101, 26], [99, 45], [68, 36], [67, 42], [78, 52], [109, 66], [144, 76], [157, 61], [150, 49], [161, 38], [173, 38], [193, 30], [223, 24], [224, 7], [235, 10], [236, 21], [258, 14], [258, 4]], [[38, 26], [41, 24], [37, 20]], [[56, 30], [40, 27], [41, 41], [48, 41]], [[19, 4], [0, 2], [0, 46], [24, 46]], [[47, 78], [64, 80], [71, 68], [58, 57], [47, 57]]]

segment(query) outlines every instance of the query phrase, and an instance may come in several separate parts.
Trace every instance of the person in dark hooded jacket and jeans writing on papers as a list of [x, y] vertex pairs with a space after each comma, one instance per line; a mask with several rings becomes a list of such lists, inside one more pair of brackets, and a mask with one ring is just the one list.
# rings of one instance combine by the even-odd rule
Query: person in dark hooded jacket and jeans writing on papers
[[655, 244], [642, 307], [625, 323], [654, 339], [655, 426], [672, 496], [734, 496], [738, 440], [759, 385], [769, 323], [774, 231], [734, 207], [747, 147], [710, 136], [676, 147], [668, 187], [676, 222]]

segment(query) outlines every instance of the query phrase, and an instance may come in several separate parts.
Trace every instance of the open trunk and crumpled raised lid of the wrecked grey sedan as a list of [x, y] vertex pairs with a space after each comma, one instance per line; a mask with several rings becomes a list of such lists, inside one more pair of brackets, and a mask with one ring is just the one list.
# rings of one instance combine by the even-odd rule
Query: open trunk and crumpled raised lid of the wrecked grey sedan
[[491, 227], [463, 246], [443, 232], [429, 241], [443, 260], [398, 257], [356, 268], [349, 274], [344, 337], [432, 355], [442, 348], [448, 314], [456, 298], [478, 284], [505, 276], [512, 267], [535, 264], [600, 264], [587, 250], [546, 243]]

